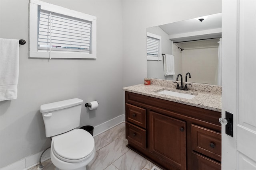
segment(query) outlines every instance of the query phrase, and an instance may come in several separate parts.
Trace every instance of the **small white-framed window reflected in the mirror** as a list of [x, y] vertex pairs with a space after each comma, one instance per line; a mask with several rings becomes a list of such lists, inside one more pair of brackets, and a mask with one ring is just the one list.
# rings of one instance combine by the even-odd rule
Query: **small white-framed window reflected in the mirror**
[[162, 61], [161, 36], [147, 32], [147, 59]]

